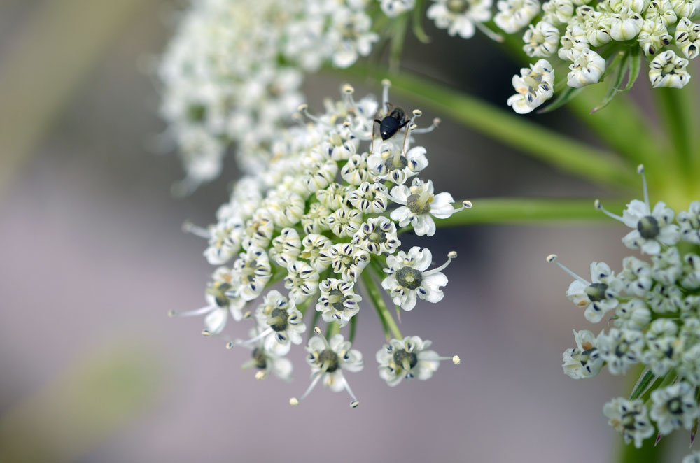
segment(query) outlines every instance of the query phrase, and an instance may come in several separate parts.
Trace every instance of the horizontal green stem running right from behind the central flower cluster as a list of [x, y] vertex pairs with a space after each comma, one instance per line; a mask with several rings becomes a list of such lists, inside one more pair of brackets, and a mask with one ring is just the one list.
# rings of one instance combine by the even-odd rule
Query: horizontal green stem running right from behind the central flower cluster
[[[610, 218], [598, 211], [593, 206], [593, 202], [592, 199], [474, 199], [473, 208], [454, 213], [447, 219], [435, 220], [435, 225], [444, 228], [531, 222], [541, 225], [543, 221], [571, 223], [573, 220], [605, 220], [610, 222]], [[603, 204], [610, 211], [624, 209], [624, 202], [619, 200], [603, 201]]]

